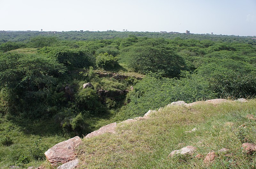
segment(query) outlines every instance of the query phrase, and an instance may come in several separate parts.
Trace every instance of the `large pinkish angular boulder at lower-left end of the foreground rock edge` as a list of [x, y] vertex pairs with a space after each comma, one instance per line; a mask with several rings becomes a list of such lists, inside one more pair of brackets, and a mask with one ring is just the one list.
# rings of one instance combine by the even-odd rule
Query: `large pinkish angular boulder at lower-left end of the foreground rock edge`
[[51, 165], [64, 164], [76, 159], [75, 148], [81, 143], [81, 138], [76, 136], [54, 145], [44, 154]]

